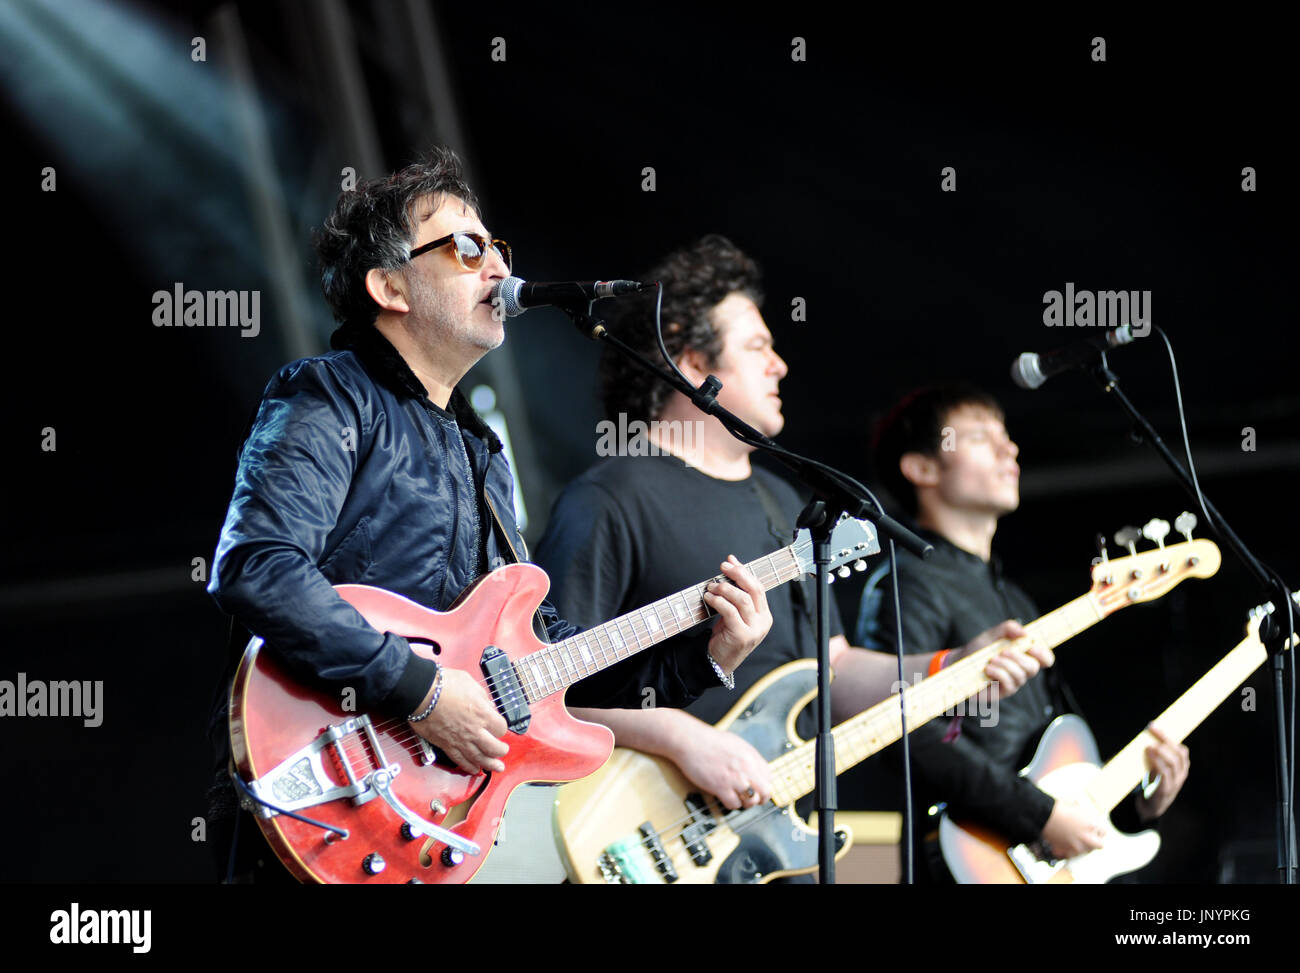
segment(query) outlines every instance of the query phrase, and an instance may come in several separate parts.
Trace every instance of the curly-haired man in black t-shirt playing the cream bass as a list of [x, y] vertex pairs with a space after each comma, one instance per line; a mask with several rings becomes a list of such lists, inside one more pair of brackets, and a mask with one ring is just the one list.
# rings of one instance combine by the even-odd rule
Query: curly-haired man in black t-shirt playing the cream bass
[[[786, 367], [758, 310], [762, 287], [757, 264], [724, 237], [708, 235], [671, 254], [642, 280], [663, 284], [664, 345], [686, 379], [698, 386], [715, 375], [723, 384], [719, 403], [759, 432], [776, 436], [785, 423], [777, 386]], [[653, 294], [620, 302], [608, 327], [644, 354], [658, 356]], [[610, 421], [620, 428], [637, 420], [651, 425], [647, 444], [624, 444], [627, 455], [603, 459], [555, 502], [537, 562], [550, 575], [551, 594], [566, 617], [586, 624], [679, 591], [707, 578], [714, 553], [723, 548], [751, 559], [790, 542], [803, 506], [800, 493], [784, 479], [751, 466], [750, 446], [618, 355], [607, 353], [602, 359], [601, 379]], [[620, 414], [625, 421], [619, 421]], [[801, 584], [790, 583], [767, 597], [771, 633], [737, 671], [733, 691], [715, 687], [685, 710], [642, 693], [637, 709], [584, 709], [577, 714], [610, 726], [621, 747], [667, 757], [728, 808], [767, 801], [772, 786], [768, 758], [740, 736], [710, 726], [772, 669], [816, 654], [811, 583], [806, 593]], [[889, 696], [897, 662], [852, 648], [833, 606], [831, 619], [832, 702], [838, 721]], [[997, 631], [1018, 635], [1020, 630], [1013, 623]], [[971, 636], [962, 641], [974, 644]], [[699, 636], [684, 633], [673, 641], [689, 643], [692, 637]], [[988, 640], [985, 636], [978, 644]], [[1050, 653], [1035, 653], [1036, 658], [1005, 653], [988, 673], [1013, 692], [1037, 671], [1040, 661], [1050, 665]], [[927, 665], [928, 660], [909, 661], [909, 678], [924, 674]], [[594, 688], [597, 680], [633, 693], [638, 689], [636, 675], [619, 666], [586, 682]], [[575, 691], [568, 702], [601, 705]], [[812, 736], [811, 708], [797, 726], [805, 738]]]

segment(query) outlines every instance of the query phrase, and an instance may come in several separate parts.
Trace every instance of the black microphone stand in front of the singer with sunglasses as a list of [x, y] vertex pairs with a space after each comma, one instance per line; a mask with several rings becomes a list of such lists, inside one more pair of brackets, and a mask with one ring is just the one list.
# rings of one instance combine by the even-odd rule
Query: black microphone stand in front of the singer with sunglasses
[[[586, 307], [582, 307], [584, 303]], [[833, 885], [835, 853], [837, 851], [835, 812], [838, 800], [835, 780], [835, 739], [831, 734], [831, 533], [840, 520], [840, 514], [846, 513], [853, 518], [871, 520], [880, 533], [892, 537], [920, 558], [928, 557], [933, 548], [885, 514], [884, 510], [870, 503], [842, 473], [777, 446], [758, 429], [719, 406], [718, 393], [723, 386], [715, 376], [710, 375], [705, 379], [698, 389], [690, 382], [682, 381], [679, 376], [654, 364], [625, 342], [610, 334], [604, 323], [592, 313], [592, 306], [588, 302], [556, 304], [573, 319], [573, 324], [581, 334], [593, 341], [603, 341], [641, 369], [668, 382], [702, 412], [715, 416], [737, 440], [775, 457], [818, 497], [803, 509], [796, 526], [806, 527], [812, 535], [814, 563], [816, 565], [818, 734], [814, 779], [818, 813], [818, 874], [823, 885]]]

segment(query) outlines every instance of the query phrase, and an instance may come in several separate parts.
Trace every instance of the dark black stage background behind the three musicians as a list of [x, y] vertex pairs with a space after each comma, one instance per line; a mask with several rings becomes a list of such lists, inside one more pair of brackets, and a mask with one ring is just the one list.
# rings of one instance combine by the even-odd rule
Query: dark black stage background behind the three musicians
[[[316, 5], [237, 7], [309, 298], [303, 324], [320, 349], [330, 323], [307, 234], [339, 169], [356, 163], [303, 66]], [[0, 719], [13, 782], [0, 827], [31, 839], [0, 878], [202, 882], [208, 855], [191, 833], [205, 810], [203, 726], [225, 620], [191, 580], [192, 559], [211, 561], [238, 433], [291, 356], [289, 310], [268, 284], [230, 137], [211, 31], [220, 8], [58, 9], [17, 4], [0, 33], [12, 460], [0, 678], [103, 679], [104, 723]], [[412, 108], [408, 65], [364, 42], [376, 8], [344, 9], [394, 168], [432, 129]], [[1075, 337], [1044, 327], [1045, 291], [1150, 290], [1153, 323], [1178, 353], [1201, 484], [1296, 583], [1294, 155], [1283, 151], [1294, 81], [1275, 25], [433, 10], [465, 133], [456, 148], [521, 276], [634, 277], [673, 246], [729, 235], [764, 268], [766, 317], [790, 367], [783, 444], [862, 477], [870, 421], [898, 393], [952, 377], [985, 386], [1024, 470], [1022, 510], [996, 546], [1044, 607], [1086, 589], [1097, 532], [1173, 520], [1191, 502], [1086, 376], [1027, 393], [1009, 364]], [[195, 35], [208, 38], [207, 62], [190, 57]], [[497, 36], [503, 62], [490, 57]], [[794, 36], [806, 39], [803, 62], [790, 59]], [[55, 193], [42, 191], [43, 167], [57, 172]], [[654, 193], [641, 189], [644, 167]], [[940, 191], [944, 167], [956, 193]], [[1244, 167], [1257, 191], [1242, 190]], [[260, 289], [261, 334], [155, 328], [151, 295], [176, 281]], [[806, 321], [790, 320], [796, 297]], [[526, 450], [536, 539], [555, 490], [595, 459], [597, 349], [549, 312], [508, 332], [494, 354], [520, 381], [507, 419]], [[1112, 363], [1180, 449], [1158, 338]], [[53, 451], [42, 449], [46, 428]], [[855, 584], [836, 593], [852, 622]], [[1260, 600], [1225, 550], [1217, 578], [1065, 646], [1060, 665], [1102, 753], [1234, 645]], [[1271, 878], [1271, 704], [1261, 674], [1247, 686], [1253, 710], [1234, 696], [1190, 740], [1192, 774], [1153, 879]], [[892, 806], [884, 786], [855, 774], [844, 796]]]

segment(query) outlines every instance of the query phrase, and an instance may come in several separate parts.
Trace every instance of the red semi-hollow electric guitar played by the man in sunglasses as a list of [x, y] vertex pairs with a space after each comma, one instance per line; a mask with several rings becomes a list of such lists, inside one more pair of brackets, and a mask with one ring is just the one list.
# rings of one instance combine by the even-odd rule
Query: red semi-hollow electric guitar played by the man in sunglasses
[[[836, 527], [831, 544], [832, 567], [842, 571], [880, 549], [875, 529], [852, 519]], [[771, 589], [814, 571], [811, 549], [801, 531], [794, 544], [749, 567]], [[377, 631], [402, 635], [419, 654], [478, 679], [510, 727], [506, 770], [460, 770], [406, 719], [358, 714], [346, 697], [302, 686], [254, 639], [230, 696], [231, 758], [251, 795], [243, 804], [304, 882], [465, 882], [517, 786], [576, 780], [610, 757], [614, 734], [569, 715], [564, 689], [711, 618], [707, 584], [550, 645], [532, 627], [550, 587], [534, 565], [485, 575], [445, 613], [381, 588], [337, 585]]]

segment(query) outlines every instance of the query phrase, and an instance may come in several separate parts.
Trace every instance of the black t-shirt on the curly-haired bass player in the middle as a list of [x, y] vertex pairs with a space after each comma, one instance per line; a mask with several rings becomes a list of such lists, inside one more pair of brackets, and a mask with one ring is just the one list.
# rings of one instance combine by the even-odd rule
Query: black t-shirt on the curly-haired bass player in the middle
[[[785, 513], [781, 529], [774, 528], [764, 511], [755, 480]], [[802, 507], [790, 484], [757, 467], [745, 480], [719, 480], [671, 455], [616, 457], [564, 489], [533, 559], [550, 575], [551, 600], [560, 614], [588, 628], [718, 575], [728, 554], [749, 562], [789, 545]], [[806, 592], [806, 607], [798, 592]], [[770, 589], [772, 630], [736, 670], [736, 689], [719, 683], [688, 712], [715, 723], [772, 669], [814, 656], [812, 596], [811, 579], [802, 587], [788, 583]], [[664, 648], [703, 658], [711, 626], [670, 639]], [[832, 601], [831, 635], [842, 631]], [[638, 695], [637, 661], [633, 657], [575, 684], [569, 705], [601, 705], [599, 700], [627, 697], [629, 689]], [[811, 732], [809, 713], [800, 722], [805, 735]]]

